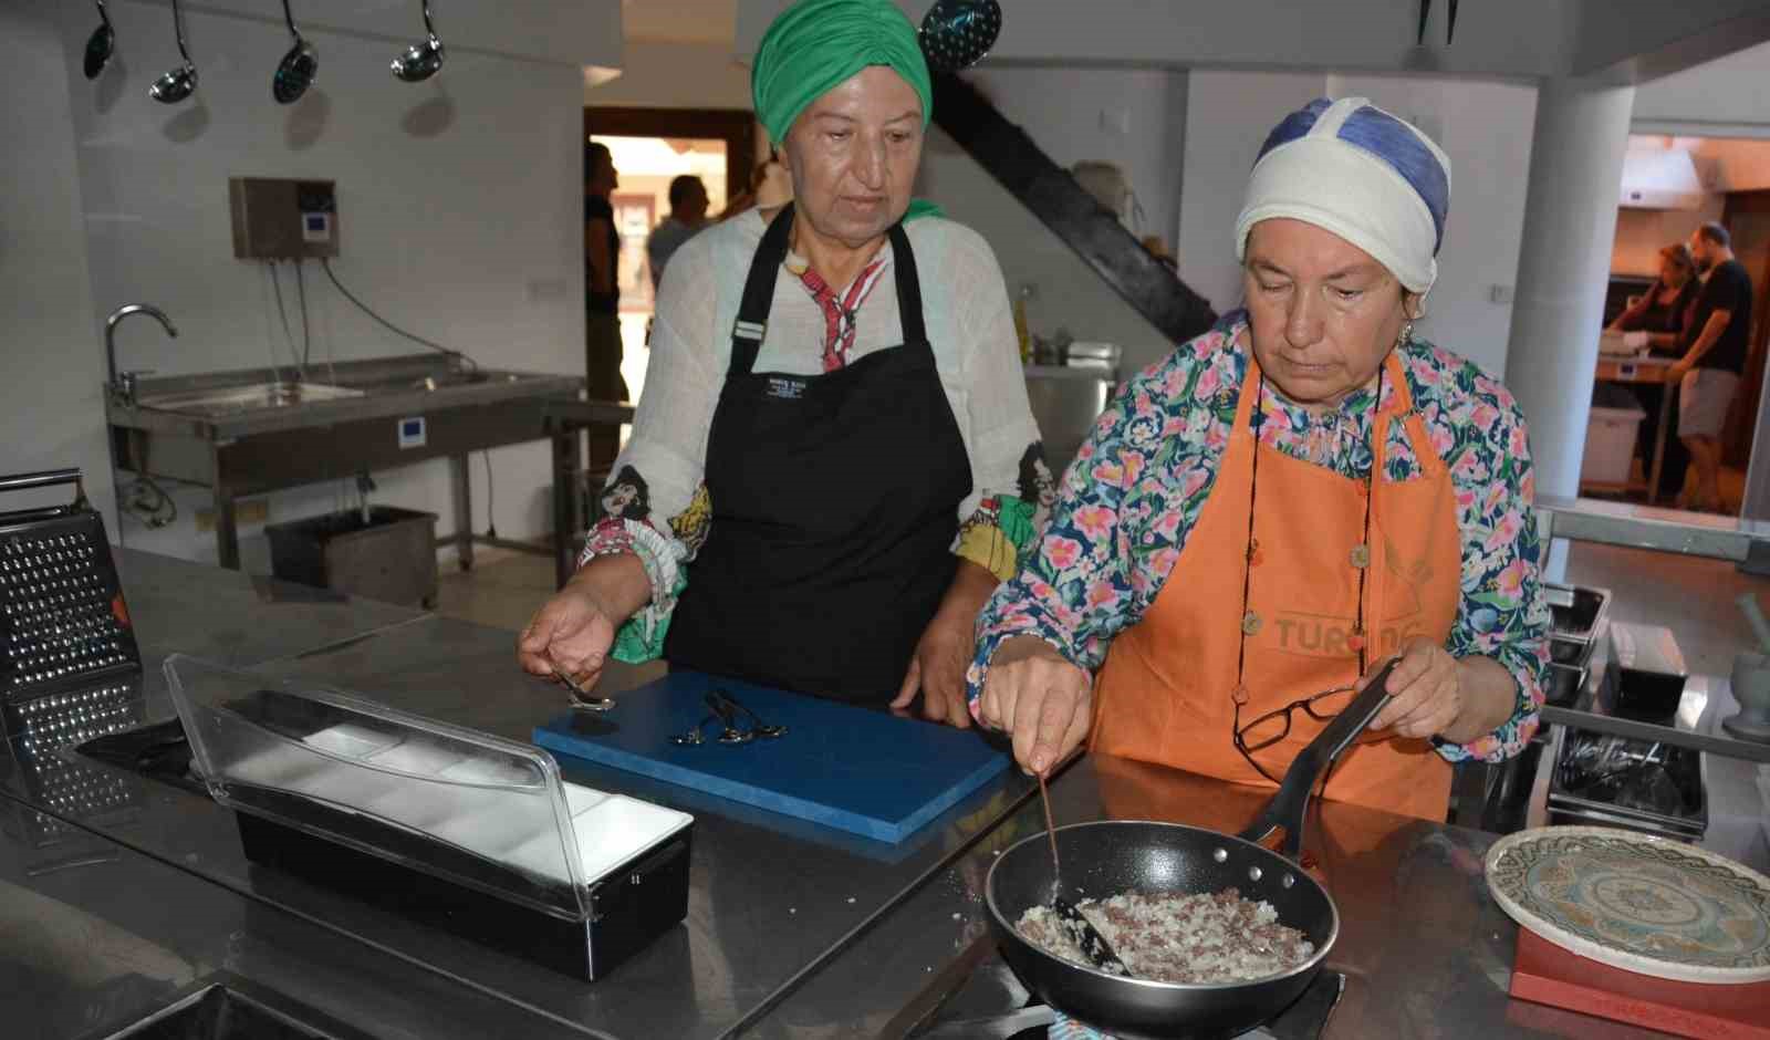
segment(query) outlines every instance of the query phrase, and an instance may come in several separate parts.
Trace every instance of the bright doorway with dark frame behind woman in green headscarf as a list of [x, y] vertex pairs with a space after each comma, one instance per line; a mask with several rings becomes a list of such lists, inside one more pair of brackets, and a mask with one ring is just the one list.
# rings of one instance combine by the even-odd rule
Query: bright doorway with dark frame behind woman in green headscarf
[[646, 334], [657, 311], [646, 242], [669, 214], [669, 184], [680, 175], [706, 186], [708, 214], [749, 191], [756, 117], [740, 110], [586, 108], [584, 140], [607, 145], [620, 172], [609, 198], [620, 235], [621, 377], [632, 400], [644, 393]]

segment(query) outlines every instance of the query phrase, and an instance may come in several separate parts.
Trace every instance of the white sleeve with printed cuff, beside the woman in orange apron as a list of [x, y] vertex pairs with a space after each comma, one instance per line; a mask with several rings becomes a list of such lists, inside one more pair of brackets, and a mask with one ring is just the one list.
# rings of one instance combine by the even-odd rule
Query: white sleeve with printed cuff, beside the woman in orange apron
[[1057, 495], [1027, 401], [1002, 267], [982, 235], [958, 225], [950, 230], [942, 276], [961, 308], [956, 324], [965, 340], [968, 414], [958, 419], [972, 456], [972, 493], [959, 504], [952, 552], [1005, 582], [1032, 552]]

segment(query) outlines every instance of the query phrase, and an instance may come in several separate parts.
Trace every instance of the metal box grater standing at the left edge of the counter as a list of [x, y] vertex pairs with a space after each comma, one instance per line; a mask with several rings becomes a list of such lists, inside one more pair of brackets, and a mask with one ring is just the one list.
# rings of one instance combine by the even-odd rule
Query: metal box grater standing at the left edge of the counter
[[67, 506], [0, 513], [0, 702], [142, 670], [104, 518], [78, 469], [0, 478], [0, 492], [73, 485]]

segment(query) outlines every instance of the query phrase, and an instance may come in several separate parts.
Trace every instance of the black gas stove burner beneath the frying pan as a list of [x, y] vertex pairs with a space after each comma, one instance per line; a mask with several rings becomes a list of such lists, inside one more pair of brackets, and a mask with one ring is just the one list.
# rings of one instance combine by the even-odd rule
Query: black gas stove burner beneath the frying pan
[[[966, 953], [975, 967], [950, 987], [938, 1005], [908, 1033], [912, 1040], [1046, 1040], [1057, 1012], [1027, 992], [995, 944], [988, 953]], [[1244, 1033], [1186, 1033], [1186, 1040], [1320, 1040], [1328, 1019], [1345, 994], [1345, 975], [1322, 971], [1303, 996], [1264, 1026]], [[1113, 1040], [1152, 1040], [1133, 1033], [1108, 1033]], [[1165, 1038], [1165, 1040], [1174, 1040]]]

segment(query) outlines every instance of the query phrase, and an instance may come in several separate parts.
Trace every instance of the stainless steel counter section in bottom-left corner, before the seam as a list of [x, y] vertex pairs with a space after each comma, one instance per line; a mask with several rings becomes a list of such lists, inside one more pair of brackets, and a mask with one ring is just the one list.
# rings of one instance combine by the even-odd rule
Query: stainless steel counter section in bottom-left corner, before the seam
[[32, 842], [12, 826], [28, 812], [0, 799], [7, 822], [0, 828], [0, 1033], [9, 1040], [108, 1036], [209, 983], [384, 1040], [600, 1036], [99, 835]]

